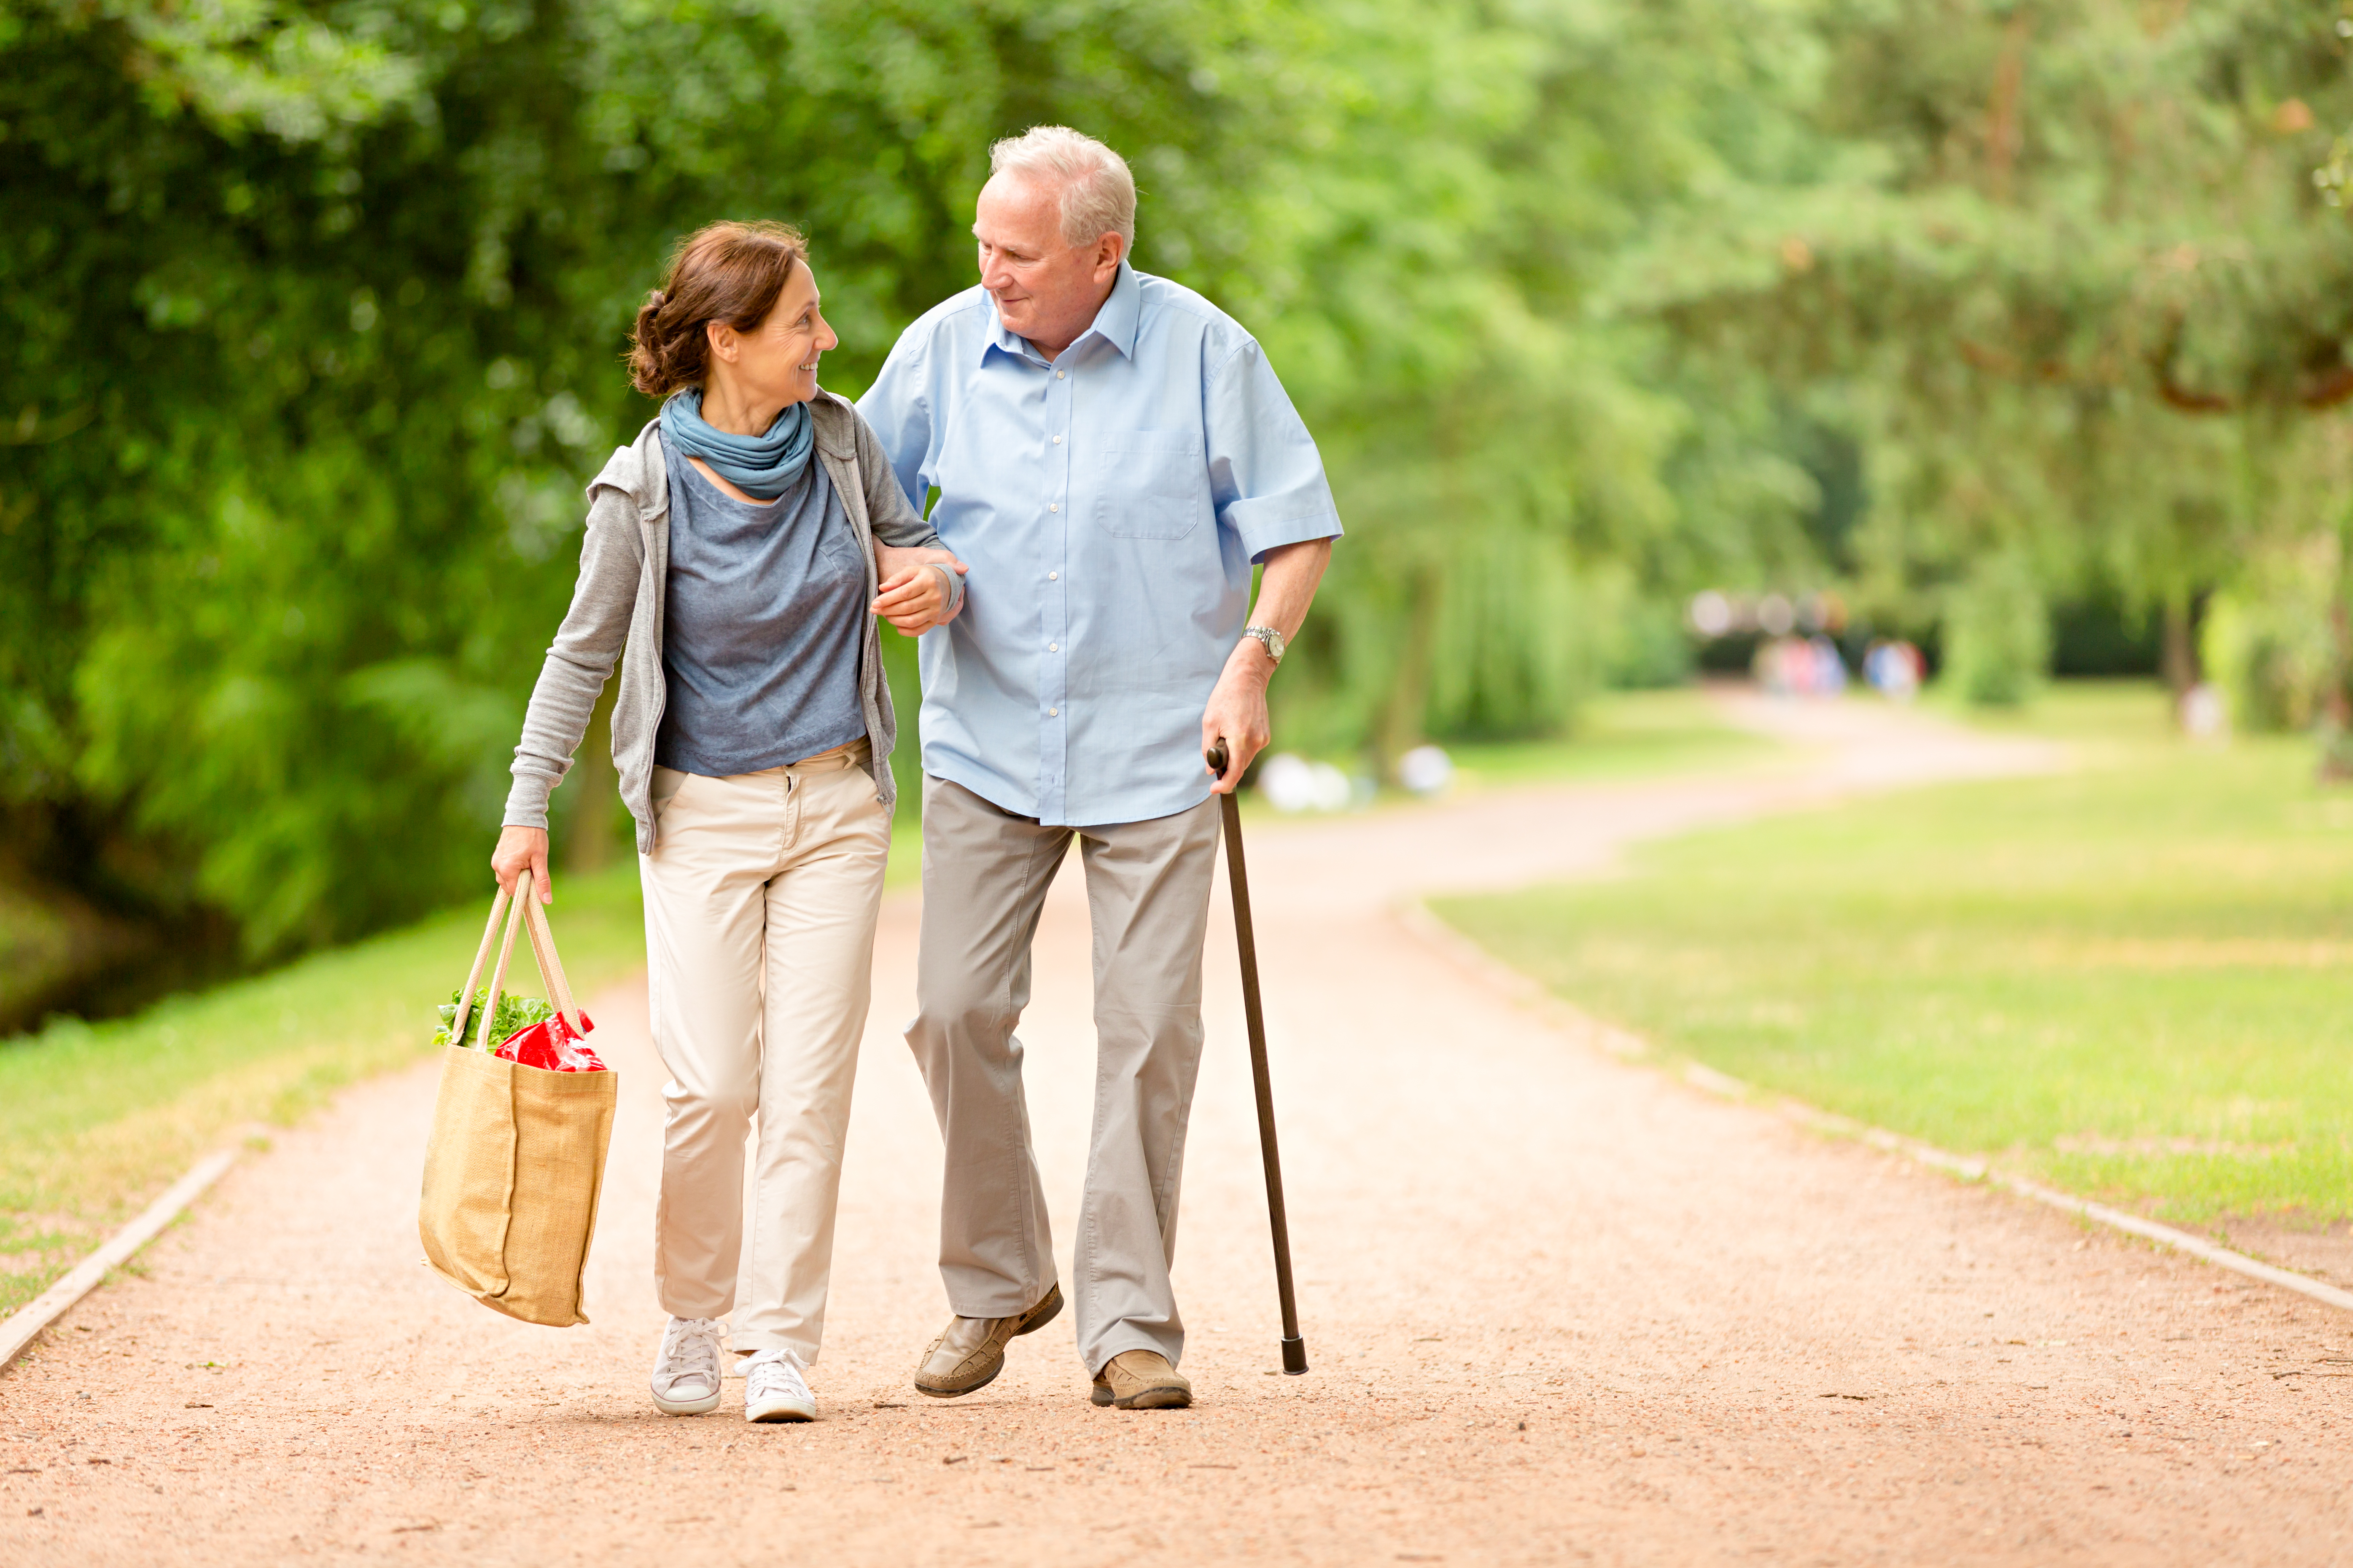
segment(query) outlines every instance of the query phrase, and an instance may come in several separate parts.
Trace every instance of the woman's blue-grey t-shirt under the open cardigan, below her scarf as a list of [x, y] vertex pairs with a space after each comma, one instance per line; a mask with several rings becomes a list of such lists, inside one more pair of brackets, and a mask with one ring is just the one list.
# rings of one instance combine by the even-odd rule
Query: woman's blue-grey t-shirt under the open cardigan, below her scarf
[[654, 762], [727, 778], [800, 762], [866, 733], [859, 637], [866, 564], [809, 456], [776, 501], [746, 503], [661, 442], [671, 468], [671, 581]]

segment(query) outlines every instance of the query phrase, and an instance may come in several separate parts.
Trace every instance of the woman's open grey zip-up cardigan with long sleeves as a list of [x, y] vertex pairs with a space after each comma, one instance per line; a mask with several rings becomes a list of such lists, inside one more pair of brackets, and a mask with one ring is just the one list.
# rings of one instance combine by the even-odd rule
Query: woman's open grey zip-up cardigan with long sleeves
[[[873, 541], [887, 545], [939, 545], [939, 534], [908, 505], [906, 491], [882, 456], [882, 442], [859, 411], [819, 390], [809, 402], [816, 456], [842, 498], [842, 512], [866, 557], [866, 597], [880, 592]], [[953, 578], [962, 602], [962, 578]], [[647, 421], [628, 447], [619, 447], [605, 473], [588, 484], [588, 536], [581, 541], [581, 576], [572, 609], [555, 630], [548, 661], [532, 686], [515, 748], [515, 785], [506, 795], [508, 827], [546, 827], [548, 795], [572, 769], [572, 752], [588, 733], [595, 698], [621, 661], [621, 691], [612, 703], [612, 759], [621, 769], [621, 799], [638, 818], [638, 853], [654, 851], [654, 731], [668, 682], [661, 672], [661, 611], [671, 583], [671, 470], [661, 456], [661, 421]], [[873, 743], [873, 780], [889, 811], [899, 792], [889, 778], [889, 755], [899, 722], [882, 679], [882, 642], [866, 616], [859, 644], [859, 703]]]

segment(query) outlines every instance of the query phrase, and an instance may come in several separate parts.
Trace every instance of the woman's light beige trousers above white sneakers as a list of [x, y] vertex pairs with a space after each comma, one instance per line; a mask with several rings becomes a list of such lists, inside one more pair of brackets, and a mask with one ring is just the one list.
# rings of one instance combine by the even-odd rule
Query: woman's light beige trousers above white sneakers
[[[816, 1361], [889, 813], [866, 743], [734, 778], [654, 769], [647, 992], [661, 1091], [654, 1286], [736, 1349]], [[744, 1143], [760, 1140], [744, 1225]]]

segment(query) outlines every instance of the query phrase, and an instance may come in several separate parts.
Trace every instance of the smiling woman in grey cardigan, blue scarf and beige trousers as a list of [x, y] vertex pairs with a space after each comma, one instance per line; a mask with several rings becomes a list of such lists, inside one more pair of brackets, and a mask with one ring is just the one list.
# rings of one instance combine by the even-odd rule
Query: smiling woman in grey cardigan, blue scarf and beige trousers
[[[654, 1403], [814, 1420], [849, 1086], [889, 851], [896, 738], [873, 616], [920, 632], [960, 567], [880, 444], [819, 390], [835, 346], [781, 223], [687, 237], [638, 310], [631, 378], [661, 416], [588, 487], [572, 609], [532, 691], [492, 867], [548, 886], [548, 792], [614, 661], [612, 757], [638, 818], [654, 1046], [671, 1074]], [[541, 893], [546, 896], [546, 893]], [[744, 1227], [744, 1140], [760, 1112]]]

